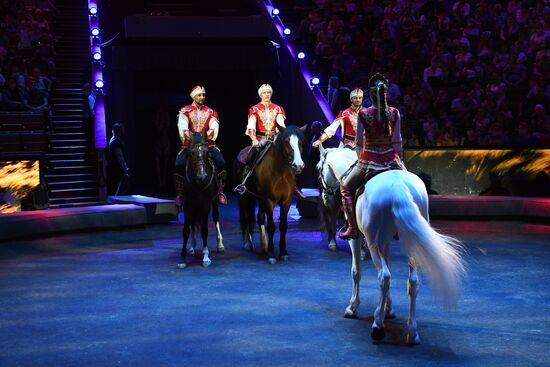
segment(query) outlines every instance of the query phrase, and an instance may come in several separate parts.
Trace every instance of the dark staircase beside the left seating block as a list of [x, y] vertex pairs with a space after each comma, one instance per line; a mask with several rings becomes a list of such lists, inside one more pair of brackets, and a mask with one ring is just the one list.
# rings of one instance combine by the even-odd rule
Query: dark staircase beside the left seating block
[[[98, 163], [93, 129], [84, 126], [84, 83], [91, 80], [88, 9], [84, 0], [57, 0], [57, 83], [50, 99], [52, 128], [48, 137], [46, 174], [50, 207], [99, 203]], [[92, 139], [92, 140], [90, 140]]]

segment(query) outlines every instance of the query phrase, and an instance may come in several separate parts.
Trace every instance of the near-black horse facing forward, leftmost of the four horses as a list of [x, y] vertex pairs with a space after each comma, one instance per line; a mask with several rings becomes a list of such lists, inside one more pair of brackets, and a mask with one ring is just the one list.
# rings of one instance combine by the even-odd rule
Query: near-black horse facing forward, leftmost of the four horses
[[199, 133], [193, 133], [189, 144], [188, 162], [185, 166], [183, 177], [183, 246], [181, 248], [181, 261], [179, 268], [185, 268], [187, 256], [187, 241], [191, 229], [199, 226], [203, 244], [204, 266], [210, 266], [212, 261], [208, 257], [208, 214], [212, 202], [217, 196], [216, 172], [214, 163], [210, 158], [208, 145]]

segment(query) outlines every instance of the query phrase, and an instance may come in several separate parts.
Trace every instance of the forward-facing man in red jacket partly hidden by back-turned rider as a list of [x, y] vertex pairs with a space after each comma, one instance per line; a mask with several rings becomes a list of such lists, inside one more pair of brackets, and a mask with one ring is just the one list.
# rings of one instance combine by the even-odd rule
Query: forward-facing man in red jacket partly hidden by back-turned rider
[[324, 141], [332, 138], [336, 131], [342, 129], [342, 142], [340, 148], [350, 148], [355, 150], [355, 140], [357, 136], [357, 116], [367, 109], [363, 107], [363, 91], [360, 88], [355, 88], [349, 94], [351, 106], [343, 111], [340, 111], [336, 119], [330, 124], [323, 135], [315, 140], [312, 144], [314, 148], [319, 147]]

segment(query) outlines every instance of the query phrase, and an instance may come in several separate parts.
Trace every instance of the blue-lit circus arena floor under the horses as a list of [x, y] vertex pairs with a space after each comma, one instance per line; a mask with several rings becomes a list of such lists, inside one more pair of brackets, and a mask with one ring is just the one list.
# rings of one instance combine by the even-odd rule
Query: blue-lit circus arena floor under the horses
[[[178, 269], [181, 226], [148, 225], [0, 243], [0, 366], [548, 366], [550, 226], [434, 221], [467, 248], [456, 308], [425, 278], [422, 344], [407, 346], [407, 261], [392, 243], [397, 318], [370, 338], [378, 286], [364, 262], [358, 319], [345, 319], [350, 251], [316, 219], [289, 223], [288, 262], [242, 248], [234, 198], [226, 252]], [[256, 233], [256, 243], [258, 235]]]

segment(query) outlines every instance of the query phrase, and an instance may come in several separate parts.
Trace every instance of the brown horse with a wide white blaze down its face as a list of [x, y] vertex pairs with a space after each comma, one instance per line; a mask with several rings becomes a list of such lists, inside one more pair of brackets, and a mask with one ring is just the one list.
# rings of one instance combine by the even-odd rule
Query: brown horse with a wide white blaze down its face
[[[261, 161], [256, 165], [254, 179], [246, 184], [246, 192], [239, 195], [239, 214], [244, 247], [253, 251], [252, 234], [254, 231], [254, 210], [256, 201], [258, 207], [258, 226], [261, 236], [261, 250], [267, 252], [267, 261], [275, 264], [277, 258], [273, 248], [275, 222], [273, 209], [279, 204], [279, 259], [288, 260], [286, 251], [286, 230], [288, 227], [287, 215], [292, 202], [292, 194], [296, 187], [295, 174], [304, 169], [302, 151], [305, 138], [302, 130], [296, 126], [287, 126], [280, 129], [271, 146]], [[245, 148], [246, 149], [246, 148]], [[234, 177], [243, 179], [243, 164], [235, 161]], [[265, 218], [267, 216], [267, 236]]]

